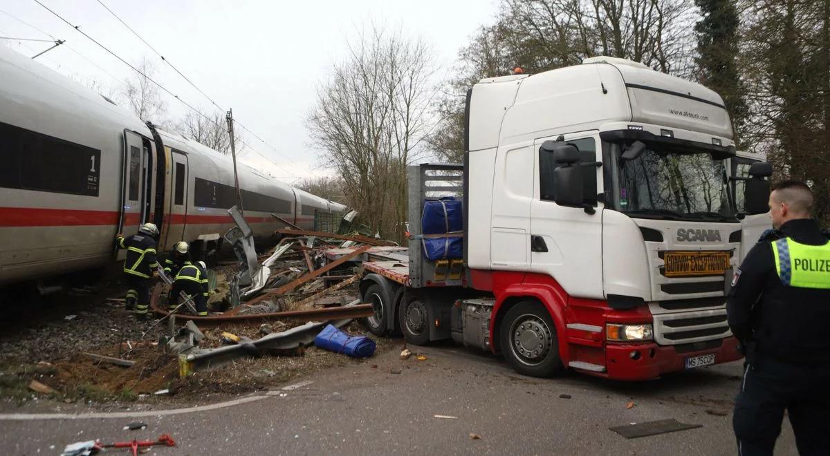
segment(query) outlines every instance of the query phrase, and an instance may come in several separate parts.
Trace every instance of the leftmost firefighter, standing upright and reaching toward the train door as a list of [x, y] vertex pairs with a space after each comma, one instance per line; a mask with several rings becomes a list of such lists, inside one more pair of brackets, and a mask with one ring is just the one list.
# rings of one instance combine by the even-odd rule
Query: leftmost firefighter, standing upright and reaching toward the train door
[[127, 260], [124, 262], [124, 277], [129, 286], [126, 308], [135, 309], [135, 318], [142, 321], [147, 319], [150, 283], [157, 274], [155, 268], [159, 266], [155, 250], [156, 235], [159, 235], [159, 229], [155, 224], [145, 223], [137, 234], [125, 238], [119, 233], [115, 237], [118, 246], [127, 250]]

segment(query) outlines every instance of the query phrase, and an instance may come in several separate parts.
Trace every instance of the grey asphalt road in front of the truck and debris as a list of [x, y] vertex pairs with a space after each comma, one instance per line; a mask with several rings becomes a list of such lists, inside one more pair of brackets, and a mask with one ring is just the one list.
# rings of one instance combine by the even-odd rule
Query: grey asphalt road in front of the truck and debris
[[[178, 448], [151, 454], [737, 453], [731, 427], [741, 375], [737, 362], [644, 383], [578, 374], [540, 380], [462, 347], [414, 348], [427, 360], [400, 361], [393, 351], [285, 390], [263, 391], [256, 394], [260, 399], [241, 405], [141, 417], [149, 427], [139, 431], [122, 429], [133, 420], [126, 416], [0, 420], [0, 449], [60, 454], [79, 440], [155, 439], [166, 433]], [[608, 429], [672, 418], [702, 427], [638, 439]], [[776, 454], [797, 454], [788, 422]]]

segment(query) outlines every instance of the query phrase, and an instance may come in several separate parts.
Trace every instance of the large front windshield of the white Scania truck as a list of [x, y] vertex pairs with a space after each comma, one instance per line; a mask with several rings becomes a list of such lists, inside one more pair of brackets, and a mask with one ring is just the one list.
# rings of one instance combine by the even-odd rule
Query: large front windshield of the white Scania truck
[[725, 160], [707, 152], [673, 152], [649, 146], [638, 158], [614, 158], [614, 208], [632, 217], [671, 220], [738, 221], [726, 184]]

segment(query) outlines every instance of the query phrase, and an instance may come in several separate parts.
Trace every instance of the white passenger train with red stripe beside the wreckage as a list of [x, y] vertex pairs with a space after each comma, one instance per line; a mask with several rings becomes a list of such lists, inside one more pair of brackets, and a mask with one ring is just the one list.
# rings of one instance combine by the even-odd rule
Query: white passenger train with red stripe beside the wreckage
[[[114, 236], [148, 221], [159, 252], [212, 250], [233, 223], [231, 158], [144, 124], [94, 91], [0, 46], [0, 284], [104, 266]], [[345, 206], [239, 164], [256, 237], [312, 229]]]

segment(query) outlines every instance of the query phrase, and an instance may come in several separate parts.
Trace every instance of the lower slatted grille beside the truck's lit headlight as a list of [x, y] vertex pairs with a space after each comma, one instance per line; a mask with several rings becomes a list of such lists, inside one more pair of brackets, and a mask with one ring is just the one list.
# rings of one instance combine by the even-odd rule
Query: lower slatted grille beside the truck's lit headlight
[[704, 342], [731, 334], [725, 308], [654, 314], [654, 339], [660, 345]]

